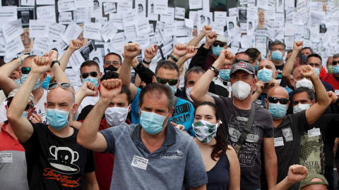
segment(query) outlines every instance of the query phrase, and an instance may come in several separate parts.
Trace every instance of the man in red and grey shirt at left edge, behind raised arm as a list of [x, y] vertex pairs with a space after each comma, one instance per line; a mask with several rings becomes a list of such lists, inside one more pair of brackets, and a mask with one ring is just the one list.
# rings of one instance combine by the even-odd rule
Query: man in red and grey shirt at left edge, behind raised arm
[[[7, 97], [6, 110], [11, 105], [13, 96], [18, 89], [13, 89]], [[27, 106], [23, 111], [24, 118], [30, 118], [34, 112], [34, 96], [31, 93]], [[4, 189], [28, 189], [27, 164], [25, 148], [19, 143], [18, 137], [8, 121], [0, 123], [0, 184]]]

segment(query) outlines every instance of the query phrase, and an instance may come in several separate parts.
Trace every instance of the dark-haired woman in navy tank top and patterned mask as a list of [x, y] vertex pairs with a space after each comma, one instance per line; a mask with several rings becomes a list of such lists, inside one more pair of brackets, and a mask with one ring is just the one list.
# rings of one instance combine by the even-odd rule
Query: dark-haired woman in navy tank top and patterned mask
[[227, 145], [214, 103], [203, 102], [194, 115], [193, 129], [208, 176], [207, 189], [240, 189], [240, 165], [232, 146]]

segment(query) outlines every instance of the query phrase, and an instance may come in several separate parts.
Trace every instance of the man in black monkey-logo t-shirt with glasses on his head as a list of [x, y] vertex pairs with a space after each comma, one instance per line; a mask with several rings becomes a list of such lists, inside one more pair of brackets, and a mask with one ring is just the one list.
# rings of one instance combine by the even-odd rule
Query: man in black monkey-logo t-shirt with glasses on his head
[[[99, 189], [95, 179], [92, 151], [78, 145], [78, 129], [69, 125], [76, 113], [74, 89], [57, 61], [57, 52], [32, 59], [27, 80], [18, 89], [8, 109], [13, 132], [25, 148], [30, 189]], [[53, 60], [53, 61], [52, 61]], [[59, 63], [59, 64], [58, 64]], [[47, 115], [49, 125], [32, 124], [22, 116], [30, 91], [44, 72], [52, 68], [56, 80], [49, 84]]]

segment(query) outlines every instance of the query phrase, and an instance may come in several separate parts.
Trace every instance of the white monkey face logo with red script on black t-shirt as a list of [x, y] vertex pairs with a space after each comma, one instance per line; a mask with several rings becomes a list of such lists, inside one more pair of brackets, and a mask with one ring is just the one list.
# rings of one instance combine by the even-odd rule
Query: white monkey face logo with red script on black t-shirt
[[81, 179], [72, 179], [71, 176], [80, 171], [78, 165], [74, 164], [79, 159], [79, 154], [69, 147], [50, 146], [49, 153], [53, 158], [49, 158], [49, 164], [52, 168], [44, 169], [45, 179], [55, 179], [63, 186], [76, 187], [79, 186], [78, 181]]

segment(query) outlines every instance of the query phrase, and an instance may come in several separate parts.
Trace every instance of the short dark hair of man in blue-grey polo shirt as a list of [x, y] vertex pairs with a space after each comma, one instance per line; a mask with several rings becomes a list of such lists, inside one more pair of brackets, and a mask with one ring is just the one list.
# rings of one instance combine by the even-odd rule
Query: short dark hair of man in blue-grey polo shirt
[[171, 110], [174, 108], [174, 94], [172, 90], [165, 84], [160, 84], [158, 82], [151, 82], [150, 84], [147, 84], [143, 89], [141, 89], [140, 95], [139, 95], [139, 106], [141, 107], [143, 105], [143, 97], [148, 92], [156, 92], [159, 95], [165, 94], [168, 99], [168, 110]]

